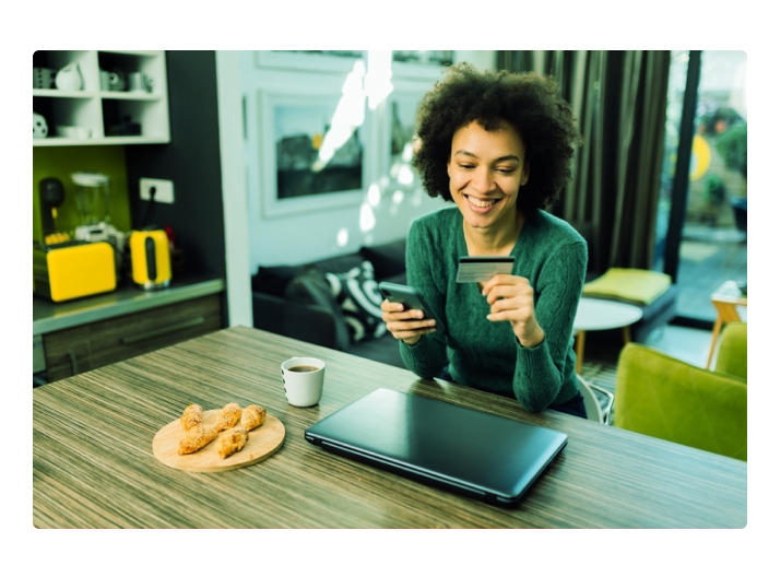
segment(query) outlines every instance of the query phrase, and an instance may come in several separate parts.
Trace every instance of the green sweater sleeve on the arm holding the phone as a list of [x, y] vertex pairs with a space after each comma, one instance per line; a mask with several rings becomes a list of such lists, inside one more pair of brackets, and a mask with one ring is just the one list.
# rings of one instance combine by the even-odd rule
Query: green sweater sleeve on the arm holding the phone
[[[424, 223], [414, 221], [406, 240], [406, 279], [410, 286], [422, 293], [446, 327], [446, 282], [442, 281], [441, 288], [441, 268], [435, 261], [437, 255], [431, 250], [433, 244]], [[446, 335], [440, 330], [423, 334], [415, 345], [401, 341], [400, 348], [403, 363], [419, 378], [433, 379], [446, 366]]]

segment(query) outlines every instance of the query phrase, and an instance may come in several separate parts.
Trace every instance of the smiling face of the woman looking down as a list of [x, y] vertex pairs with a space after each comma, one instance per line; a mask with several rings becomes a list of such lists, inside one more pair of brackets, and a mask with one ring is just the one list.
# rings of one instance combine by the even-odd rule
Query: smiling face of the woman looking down
[[518, 130], [502, 121], [486, 131], [473, 121], [451, 144], [449, 188], [466, 224], [474, 228], [513, 226], [518, 190], [529, 180], [525, 148]]

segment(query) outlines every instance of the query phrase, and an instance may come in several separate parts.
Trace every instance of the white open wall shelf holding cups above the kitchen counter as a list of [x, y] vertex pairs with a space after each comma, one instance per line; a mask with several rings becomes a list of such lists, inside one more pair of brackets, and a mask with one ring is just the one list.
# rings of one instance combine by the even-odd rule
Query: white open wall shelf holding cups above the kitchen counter
[[[83, 90], [33, 89], [32, 108], [46, 118], [48, 137], [32, 139], [33, 146], [102, 144], [164, 144], [170, 142], [165, 50], [47, 50], [48, 68], [60, 70], [76, 62]], [[153, 79], [152, 92], [103, 91], [99, 71], [121, 69]], [[141, 126], [141, 136], [110, 136], [113, 126], [128, 117]], [[91, 129], [84, 139], [59, 137], [57, 126]]]

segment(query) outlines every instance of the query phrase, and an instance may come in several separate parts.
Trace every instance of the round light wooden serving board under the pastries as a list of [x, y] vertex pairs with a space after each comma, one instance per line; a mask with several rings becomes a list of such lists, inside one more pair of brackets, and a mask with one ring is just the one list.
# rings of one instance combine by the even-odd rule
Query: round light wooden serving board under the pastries
[[[203, 425], [213, 426], [221, 411], [221, 409], [203, 411]], [[268, 413], [261, 425], [248, 432], [248, 440], [244, 448], [222, 459], [216, 449], [218, 436], [197, 452], [179, 455], [179, 441], [186, 433], [181, 428], [180, 419], [168, 423], [152, 439], [152, 451], [163, 464], [196, 473], [230, 471], [262, 461], [281, 448], [286, 436], [283, 423]]]

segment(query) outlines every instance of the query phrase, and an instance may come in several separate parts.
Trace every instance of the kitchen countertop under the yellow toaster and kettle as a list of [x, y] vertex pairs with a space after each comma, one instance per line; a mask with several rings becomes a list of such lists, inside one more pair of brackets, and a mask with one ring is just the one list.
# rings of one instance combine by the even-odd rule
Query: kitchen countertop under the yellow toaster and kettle
[[159, 291], [144, 291], [126, 284], [111, 293], [67, 303], [52, 303], [33, 295], [32, 335], [34, 338], [223, 291], [224, 280], [218, 276], [186, 273]]

